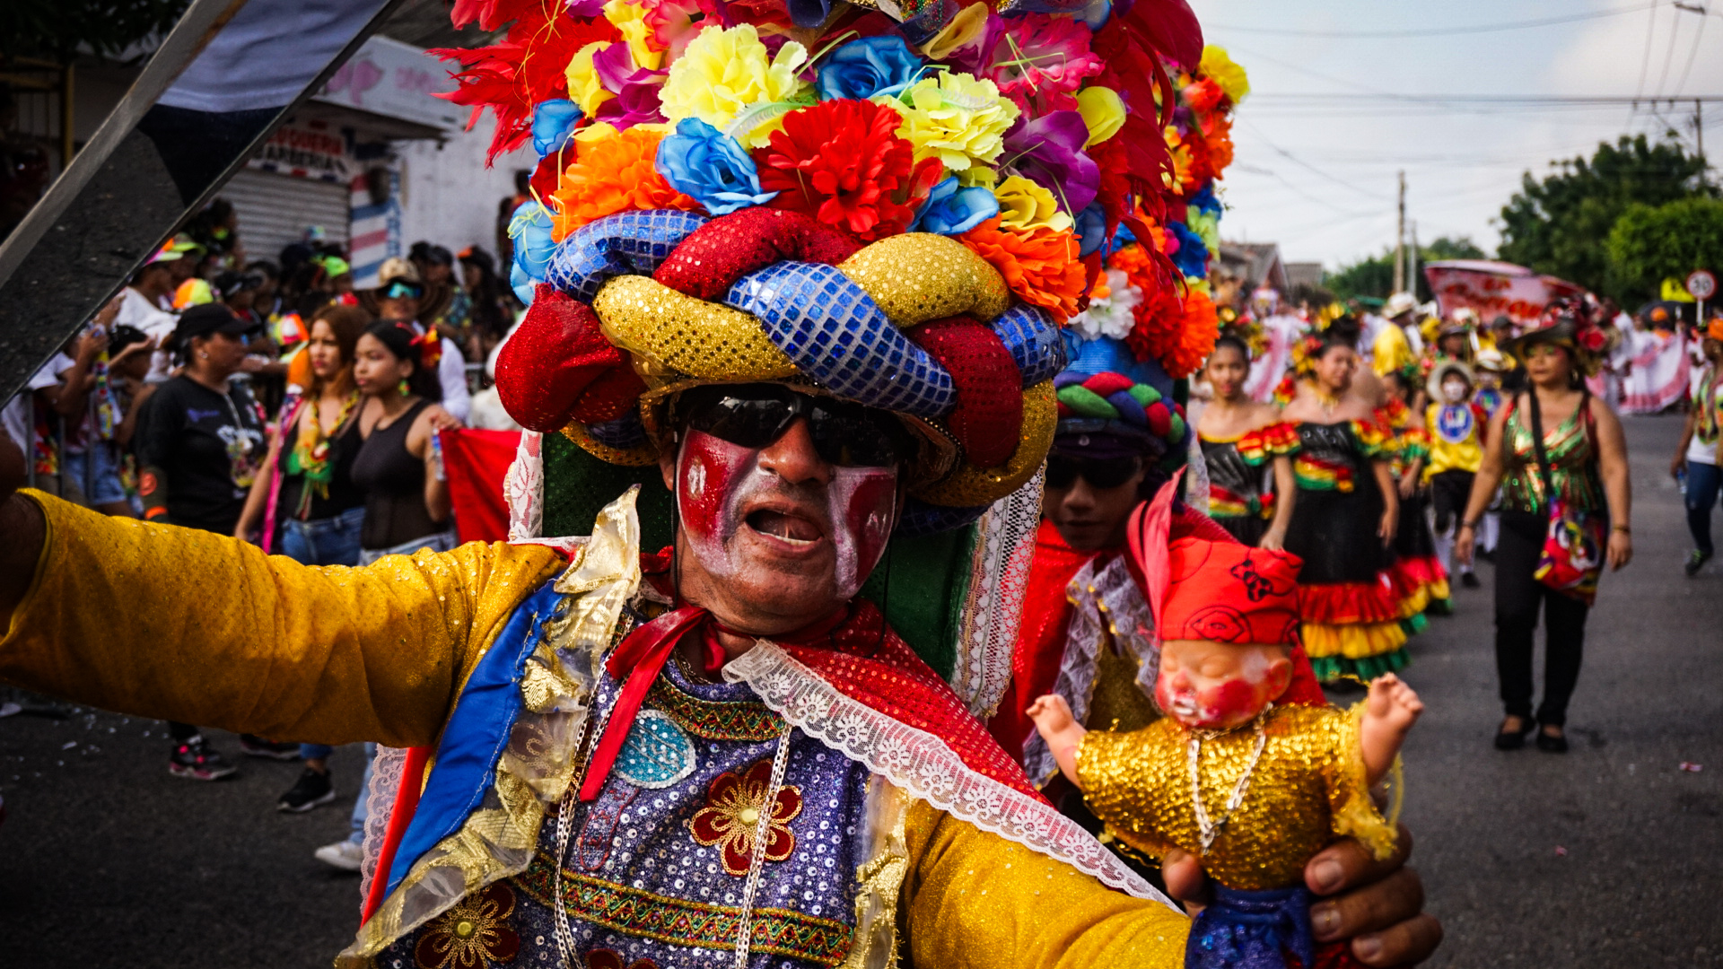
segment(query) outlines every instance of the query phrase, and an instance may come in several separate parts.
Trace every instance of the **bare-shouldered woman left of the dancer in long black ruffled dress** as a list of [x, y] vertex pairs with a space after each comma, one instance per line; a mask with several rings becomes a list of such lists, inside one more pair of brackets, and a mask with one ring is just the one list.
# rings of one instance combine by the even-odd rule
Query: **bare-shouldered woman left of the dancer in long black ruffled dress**
[[1204, 367], [1215, 398], [1196, 424], [1208, 464], [1208, 516], [1246, 545], [1282, 548], [1296, 502], [1297, 431], [1272, 405], [1244, 395], [1249, 372], [1251, 352], [1242, 340], [1215, 341]]

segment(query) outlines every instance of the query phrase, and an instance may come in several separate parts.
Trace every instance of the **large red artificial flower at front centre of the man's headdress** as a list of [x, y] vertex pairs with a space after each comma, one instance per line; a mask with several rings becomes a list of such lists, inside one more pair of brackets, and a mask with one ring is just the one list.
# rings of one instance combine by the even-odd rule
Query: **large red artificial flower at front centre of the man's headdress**
[[942, 172], [937, 159], [915, 162], [899, 124], [896, 110], [863, 100], [793, 110], [755, 152], [760, 190], [779, 193], [774, 209], [808, 212], [863, 241], [898, 234]]

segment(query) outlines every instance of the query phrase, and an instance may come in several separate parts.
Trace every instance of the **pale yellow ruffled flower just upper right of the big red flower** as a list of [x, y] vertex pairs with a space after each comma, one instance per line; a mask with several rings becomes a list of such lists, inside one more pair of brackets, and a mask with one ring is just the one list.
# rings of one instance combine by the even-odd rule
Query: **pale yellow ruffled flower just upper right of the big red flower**
[[884, 98], [882, 103], [903, 116], [898, 136], [915, 147], [915, 160], [939, 159], [953, 172], [975, 164], [992, 166], [1018, 114], [992, 81], [956, 71], [922, 78], [901, 100]]

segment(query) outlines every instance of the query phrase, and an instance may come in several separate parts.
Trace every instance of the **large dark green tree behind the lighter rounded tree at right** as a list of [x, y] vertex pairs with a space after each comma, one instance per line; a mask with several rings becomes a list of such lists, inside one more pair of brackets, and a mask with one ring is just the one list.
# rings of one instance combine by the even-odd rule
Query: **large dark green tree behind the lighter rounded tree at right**
[[1525, 172], [1502, 207], [1501, 257], [1616, 298], [1628, 295], [1609, 271], [1616, 219], [1635, 203], [1718, 197], [1704, 159], [1676, 141], [1652, 145], [1644, 134], [1604, 141], [1590, 160], [1551, 164], [1556, 171], [1542, 179]]

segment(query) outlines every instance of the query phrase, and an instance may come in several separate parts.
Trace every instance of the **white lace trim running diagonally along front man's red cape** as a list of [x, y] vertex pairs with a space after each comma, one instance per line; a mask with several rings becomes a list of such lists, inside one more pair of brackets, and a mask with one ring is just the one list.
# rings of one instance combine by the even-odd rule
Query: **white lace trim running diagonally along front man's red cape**
[[1179, 910], [1094, 836], [1048, 803], [973, 771], [937, 736], [851, 700], [777, 645], [762, 640], [724, 667], [724, 679], [748, 683], [786, 722], [851, 760], [867, 764], [911, 797], [982, 831], [1092, 874], [1111, 888]]

